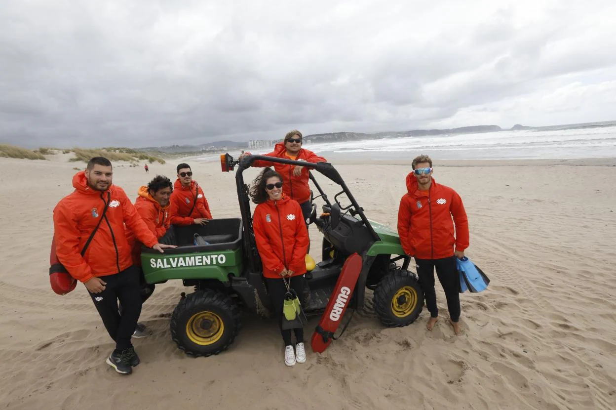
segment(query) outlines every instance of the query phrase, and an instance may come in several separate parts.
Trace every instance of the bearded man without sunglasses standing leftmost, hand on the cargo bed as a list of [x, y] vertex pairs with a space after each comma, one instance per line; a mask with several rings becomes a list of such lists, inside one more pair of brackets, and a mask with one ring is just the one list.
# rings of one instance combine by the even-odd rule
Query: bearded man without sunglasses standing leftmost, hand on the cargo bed
[[[163, 252], [171, 245], [158, 244], [124, 190], [113, 185], [107, 158], [94, 157], [86, 171], [73, 176], [75, 191], [54, 208], [54, 235], [58, 260], [68, 273], [86, 286], [105, 329], [116, 342], [107, 364], [121, 374], [131, 374], [139, 356], [131, 343], [141, 301], [139, 269], [132, 264], [132, 248], [124, 224], [148, 247]], [[81, 250], [96, 227], [84, 255]], [[123, 313], [118, 312], [118, 300]]]

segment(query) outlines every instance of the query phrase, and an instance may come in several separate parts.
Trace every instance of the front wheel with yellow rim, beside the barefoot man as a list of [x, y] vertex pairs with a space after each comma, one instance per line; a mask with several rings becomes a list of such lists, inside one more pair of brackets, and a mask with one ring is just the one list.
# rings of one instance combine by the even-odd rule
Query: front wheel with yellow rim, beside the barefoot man
[[423, 309], [423, 298], [423, 291], [415, 275], [396, 269], [384, 276], [376, 287], [376, 316], [387, 327], [407, 326], [419, 317]]

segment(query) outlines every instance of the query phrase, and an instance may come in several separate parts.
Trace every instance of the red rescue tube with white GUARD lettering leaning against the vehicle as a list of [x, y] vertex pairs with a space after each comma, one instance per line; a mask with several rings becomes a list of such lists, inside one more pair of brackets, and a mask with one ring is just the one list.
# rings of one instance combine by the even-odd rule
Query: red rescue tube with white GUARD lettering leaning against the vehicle
[[353, 253], [344, 261], [336, 287], [330, 295], [330, 301], [327, 303], [314, 334], [312, 334], [310, 346], [312, 346], [313, 351], [323, 353], [330, 345], [334, 332], [340, 326], [342, 316], [344, 316], [349, 301], [351, 301], [357, 279], [362, 271], [362, 265], [362, 256], [357, 253]]

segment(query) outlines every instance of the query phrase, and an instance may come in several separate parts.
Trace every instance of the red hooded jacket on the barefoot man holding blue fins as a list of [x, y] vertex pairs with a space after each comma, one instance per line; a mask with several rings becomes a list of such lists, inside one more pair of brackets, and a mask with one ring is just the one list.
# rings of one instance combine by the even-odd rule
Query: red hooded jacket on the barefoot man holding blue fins
[[419, 191], [412, 172], [407, 175], [407, 189], [398, 210], [398, 234], [407, 255], [441, 259], [468, 248], [468, 218], [456, 191], [434, 178], [427, 194]]

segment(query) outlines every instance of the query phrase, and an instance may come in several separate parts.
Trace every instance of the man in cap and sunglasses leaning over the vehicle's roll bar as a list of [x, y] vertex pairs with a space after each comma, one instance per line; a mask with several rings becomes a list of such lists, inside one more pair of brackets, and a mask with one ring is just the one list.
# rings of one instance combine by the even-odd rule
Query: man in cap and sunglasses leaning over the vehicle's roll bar
[[[313, 163], [327, 162], [325, 158], [319, 157], [314, 152], [302, 148], [302, 140], [302, 133], [300, 133], [297, 129], [293, 129], [293, 131], [286, 133], [282, 144], [279, 142], [274, 147], [274, 151], [265, 155], [267, 157], [285, 158], [288, 160]], [[241, 154], [240, 160], [246, 155], [252, 154], [250, 152]], [[302, 208], [304, 222], [310, 217], [310, 211], [312, 211], [312, 204], [310, 203], [310, 186], [308, 184], [310, 179], [310, 170], [304, 166], [286, 165], [269, 161], [255, 161], [252, 166], [256, 166], [258, 168], [264, 166], [274, 166], [276, 172], [282, 175], [283, 194], [299, 203], [299, 206]]]

